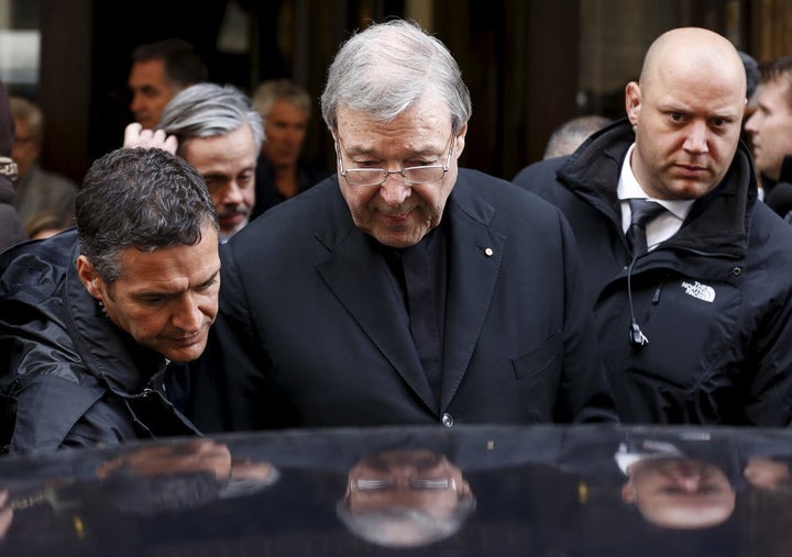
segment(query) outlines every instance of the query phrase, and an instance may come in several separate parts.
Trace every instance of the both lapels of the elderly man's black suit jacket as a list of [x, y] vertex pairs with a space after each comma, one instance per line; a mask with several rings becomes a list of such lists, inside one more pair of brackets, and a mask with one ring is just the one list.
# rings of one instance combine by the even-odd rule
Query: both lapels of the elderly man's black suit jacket
[[[316, 268], [361, 328], [435, 411], [437, 402], [413, 344], [406, 310], [392, 287], [384, 259], [374, 253], [344, 208], [330, 211], [317, 239], [327, 248]], [[492, 303], [506, 236], [491, 224], [495, 209], [474, 193], [460, 172], [443, 219], [450, 223], [443, 385], [448, 406], [470, 364]]]

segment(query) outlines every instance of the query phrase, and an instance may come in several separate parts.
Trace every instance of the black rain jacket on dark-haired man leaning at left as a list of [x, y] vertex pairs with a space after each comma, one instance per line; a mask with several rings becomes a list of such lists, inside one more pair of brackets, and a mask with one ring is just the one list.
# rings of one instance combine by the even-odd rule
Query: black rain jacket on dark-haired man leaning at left
[[198, 434], [164, 396], [165, 358], [105, 316], [78, 255], [73, 229], [0, 256], [3, 452]]

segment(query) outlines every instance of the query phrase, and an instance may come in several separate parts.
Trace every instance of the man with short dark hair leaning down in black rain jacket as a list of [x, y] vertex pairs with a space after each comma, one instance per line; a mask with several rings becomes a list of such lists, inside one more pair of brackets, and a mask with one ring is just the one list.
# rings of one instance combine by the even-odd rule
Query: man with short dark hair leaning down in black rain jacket
[[191, 165], [123, 148], [89, 168], [76, 229], [0, 256], [3, 450], [197, 433], [164, 386], [217, 315], [218, 231]]

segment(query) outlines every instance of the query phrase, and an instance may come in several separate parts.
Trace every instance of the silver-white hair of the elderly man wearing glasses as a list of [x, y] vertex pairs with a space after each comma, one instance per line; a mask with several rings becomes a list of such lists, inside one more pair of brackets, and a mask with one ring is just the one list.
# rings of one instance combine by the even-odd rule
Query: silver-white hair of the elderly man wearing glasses
[[428, 90], [446, 101], [453, 132], [459, 132], [473, 109], [462, 71], [446, 45], [411, 21], [374, 23], [352, 35], [330, 65], [322, 118], [334, 130], [343, 105], [393, 120]]

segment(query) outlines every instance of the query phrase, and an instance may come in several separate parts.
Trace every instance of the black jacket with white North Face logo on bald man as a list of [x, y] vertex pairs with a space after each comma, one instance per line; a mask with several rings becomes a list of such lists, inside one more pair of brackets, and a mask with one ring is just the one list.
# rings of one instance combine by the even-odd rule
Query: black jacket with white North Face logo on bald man
[[[626, 120], [514, 181], [558, 205], [583, 254], [601, 350], [624, 423], [792, 421], [792, 229], [757, 201], [740, 144], [682, 229], [630, 267], [616, 187]], [[635, 322], [648, 344], [630, 343]]]

